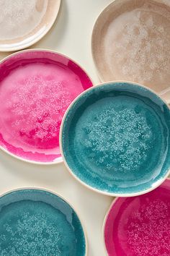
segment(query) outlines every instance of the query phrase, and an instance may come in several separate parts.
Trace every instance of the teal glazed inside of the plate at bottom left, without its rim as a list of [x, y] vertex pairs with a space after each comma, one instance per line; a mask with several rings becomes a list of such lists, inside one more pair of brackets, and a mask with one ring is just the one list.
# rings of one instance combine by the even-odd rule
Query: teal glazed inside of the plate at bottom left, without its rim
[[57, 195], [18, 190], [0, 198], [0, 255], [84, 256], [84, 231]]

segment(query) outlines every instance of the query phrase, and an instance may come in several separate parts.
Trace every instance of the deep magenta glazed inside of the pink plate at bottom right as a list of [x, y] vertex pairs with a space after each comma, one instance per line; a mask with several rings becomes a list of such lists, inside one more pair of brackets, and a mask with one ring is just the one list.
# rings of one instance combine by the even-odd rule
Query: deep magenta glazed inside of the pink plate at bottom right
[[118, 198], [104, 240], [109, 256], [169, 256], [170, 180], [146, 195]]

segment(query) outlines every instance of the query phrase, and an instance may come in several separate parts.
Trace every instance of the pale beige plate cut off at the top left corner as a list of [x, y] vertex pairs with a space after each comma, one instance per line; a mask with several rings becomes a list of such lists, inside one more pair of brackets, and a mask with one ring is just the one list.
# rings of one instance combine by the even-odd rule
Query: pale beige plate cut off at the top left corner
[[31, 46], [48, 33], [61, 0], [0, 0], [0, 51]]

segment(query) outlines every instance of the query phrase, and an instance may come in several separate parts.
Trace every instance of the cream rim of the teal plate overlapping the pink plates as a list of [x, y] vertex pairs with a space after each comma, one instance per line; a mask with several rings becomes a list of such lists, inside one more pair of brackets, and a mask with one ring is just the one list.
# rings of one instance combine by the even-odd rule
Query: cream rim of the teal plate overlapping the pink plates
[[[63, 135], [63, 125], [64, 125], [64, 122], [66, 120], [66, 116], [68, 114], [68, 112], [71, 110], [72, 106], [74, 103], [76, 103], [76, 101], [81, 98], [82, 95], [84, 95], [85, 93], [87, 93], [89, 90], [93, 90], [94, 88], [98, 88], [98, 87], [102, 87], [103, 85], [109, 85], [109, 84], [117, 84], [117, 83], [130, 83], [132, 85], [138, 85], [142, 88], [145, 88], [146, 90], [149, 90], [151, 91], [151, 93], [154, 93], [155, 95], [157, 95], [158, 98], [161, 98], [160, 95], [158, 95], [158, 93], [156, 93], [154, 90], [150, 89], [150, 88], [147, 88], [145, 85], [141, 85], [140, 83], [138, 82], [130, 82], [130, 81], [126, 81], [126, 80], [115, 80], [115, 81], [109, 81], [109, 82], [102, 82], [100, 83], [99, 85], [94, 85], [92, 86], [91, 88], [87, 89], [87, 90], [84, 90], [83, 93], [79, 94], [73, 101], [72, 103], [70, 104], [70, 106], [68, 106], [65, 114], [63, 115], [63, 119], [62, 119], [62, 122], [61, 122], [61, 129], [60, 129], [60, 135], [59, 135], [59, 145], [60, 145], [60, 150], [61, 150], [61, 156], [62, 156], [62, 159], [63, 159], [63, 163], [65, 164], [66, 166], [66, 169], [68, 170], [68, 172], [73, 176], [74, 179], [76, 179], [78, 182], [80, 182], [82, 185], [84, 185], [84, 187], [94, 191], [94, 192], [98, 192], [99, 194], [102, 194], [102, 195], [107, 195], [107, 196], [112, 196], [112, 197], [135, 197], [135, 196], [138, 196], [138, 195], [144, 195], [148, 192], [151, 192], [153, 189], [156, 189], [156, 187], [159, 187], [165, 180], [166, 178], [169, 176], [170, 174], [170, 166], [169, 166], [169, 169], [167, 170], [166, 172], [166, 175], [162, 178], [162, 179], [159, 179], [157, 182], [155, 182], [155, 185], [150, 187], [149, 189], [145, 189], [145, 190], [142, 190], [140, 192], [133, 192], [133, 193], [123, 193], [123, 194], [120, 194], [120, 193], [115, 193], [115, 192], [106, 192], [106, 191], [103, 191], [101, 189], [97, 189], [97, 188], [94, 188], [92, 186], [90, 186], [89, 184], [86, 184], [86, 182], [83, 182], [78, 176], [76, 176], [76, 174], [73, 173], [73, 171], [71, 170], [71, 168], [68, 166], [68, 163], [66, 161], [66, 158], [65, 158], [65, 155], [64, 155], [64, 152], [63, 152], [63, 142], [62, 142], [62, 135]], [[167, 106], [167, 108], [169, 108], [170, 110], [170, 106], [168, 103], [166, 103], [166, 101], [161, 98], [161, 101], [163, 101], [165, 103], [165, 105]]]

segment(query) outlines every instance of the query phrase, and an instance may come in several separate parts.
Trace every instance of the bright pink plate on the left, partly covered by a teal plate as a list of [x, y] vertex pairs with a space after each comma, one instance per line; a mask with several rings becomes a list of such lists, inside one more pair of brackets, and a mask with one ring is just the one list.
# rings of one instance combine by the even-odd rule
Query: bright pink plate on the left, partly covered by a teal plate
[[4, 59], [0, 64], [0, 148], [27, 161], [61, 161], [63, 114], [91, 86], [78, 64], [53, 51], [22, 51]]

